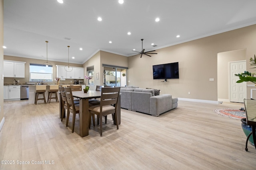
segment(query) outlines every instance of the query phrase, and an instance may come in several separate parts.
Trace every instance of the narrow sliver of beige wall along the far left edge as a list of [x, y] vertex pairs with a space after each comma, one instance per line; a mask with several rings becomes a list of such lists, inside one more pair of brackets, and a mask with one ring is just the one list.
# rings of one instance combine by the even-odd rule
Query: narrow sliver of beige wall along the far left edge
[[[4, 60], [4, 0], [0, 0], [0, 96], [4, 96], [4, 80], [2, 80]], [[0, 130], [4, 123], [4, 98], [0, 98]]]

